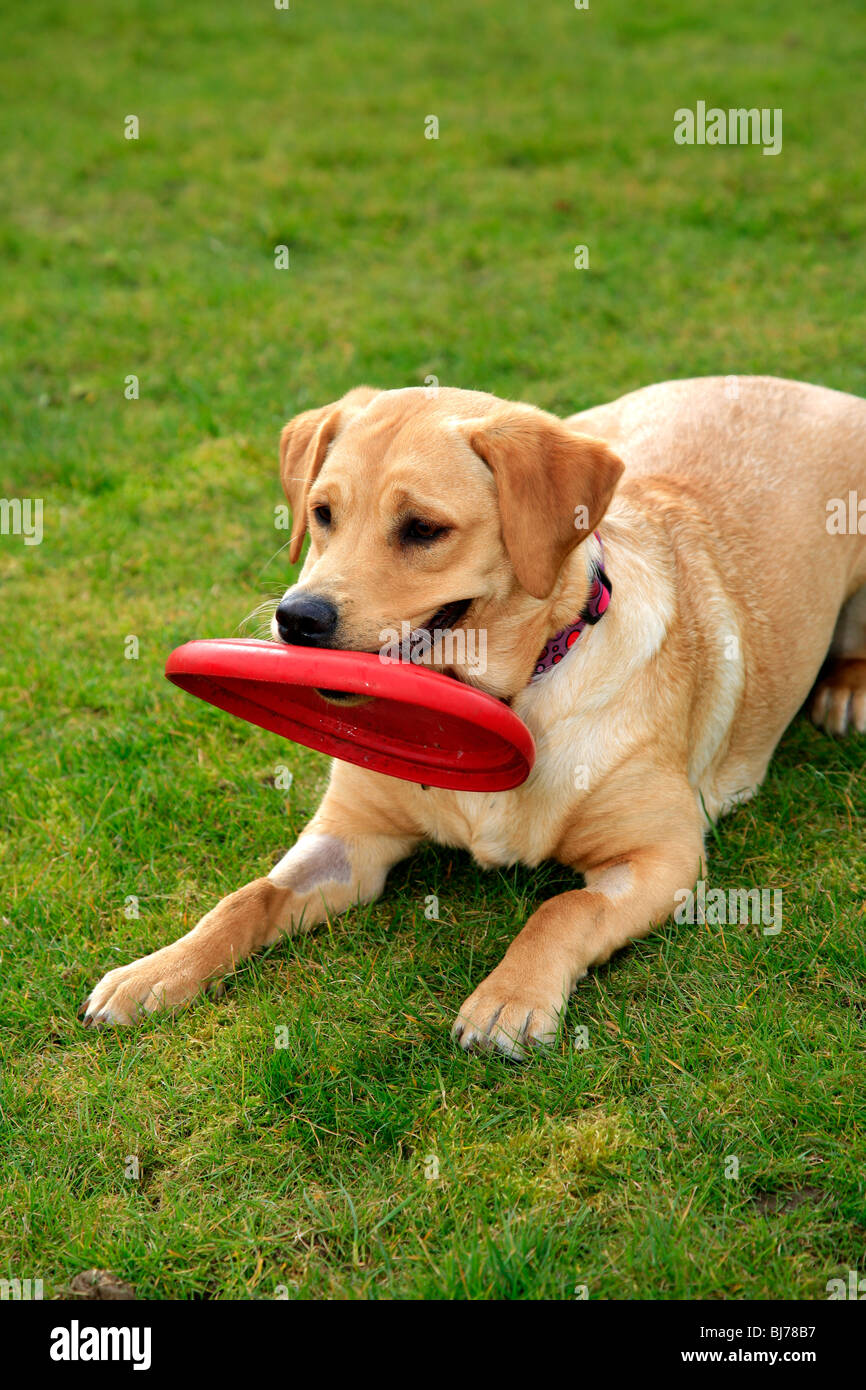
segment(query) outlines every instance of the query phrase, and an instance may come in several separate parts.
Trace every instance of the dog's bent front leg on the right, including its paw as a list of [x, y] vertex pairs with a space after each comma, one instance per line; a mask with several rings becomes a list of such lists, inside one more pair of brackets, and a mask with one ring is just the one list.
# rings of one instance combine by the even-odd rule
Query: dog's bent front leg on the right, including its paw
[[[689, 805], [691, 802], [691, 805]], [[467, 1051], [499, 1048], [521, 1059], [552, 1042], [574, 986], [674, 909], [701, 873], [703, 838], [689, 794], [687, 819], [657, 842], [606, 856], [585, 870], [585, 888], [532, 913], [502, 963], [468, 997], [453, 1027]]]

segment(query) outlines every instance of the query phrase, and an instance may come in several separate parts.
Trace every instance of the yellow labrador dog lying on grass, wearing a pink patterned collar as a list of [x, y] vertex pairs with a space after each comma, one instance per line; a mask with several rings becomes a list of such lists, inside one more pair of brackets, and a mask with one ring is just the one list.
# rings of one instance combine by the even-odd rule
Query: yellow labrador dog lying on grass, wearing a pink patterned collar
[[[274, 637], [375, 652], [473, 630], [450, 667], [531, 728], [521, 787], [457, 792], [332, 766], [267, 876], [111, 970], [88, 1023], [177, 1008], [252, 951], [375, 898], [421, 840], [584, 876], [532, 913], [455, 1023], [523, 1056], [599, 965], [663, 922], [714, 820], [760, 785], [816, 682], [866, 731], [866, 402], [766, 377], [670, 381], [559, 420], [474, 391], [359, 388], [282, 432], [295, 517]], [[452, 651], [453, 657], [453, 651]], [[826, 664], [824, 664], [826, 663]], [[823, 667], [823, 671], [822, 671]]]

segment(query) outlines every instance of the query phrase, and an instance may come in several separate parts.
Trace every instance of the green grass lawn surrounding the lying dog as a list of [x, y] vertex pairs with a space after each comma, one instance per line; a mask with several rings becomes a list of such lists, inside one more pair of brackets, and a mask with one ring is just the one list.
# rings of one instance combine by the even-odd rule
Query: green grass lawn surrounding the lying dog
[[[428, 374], [563, 413], [702, 373], [866, 395], [859, 4], [31, 0], [0, 54], [0, 495], [44, 499], [40, 546], [0, 538], [3, 1273], [149, 1298], [862, 1273], [863, 742], [802, 721], [712, 842], [713, 884], [783, 890], [781, 935], [667, 924], [528, 1066], [448, 1029], [569, 876], [436, 849], [175, 1023], [75, 1017], [321, 795], [324, 759], [161, 676], [291, 578], [292, 413]], [[783, 107], [781, 156], [674, 146], [698, 99]]]

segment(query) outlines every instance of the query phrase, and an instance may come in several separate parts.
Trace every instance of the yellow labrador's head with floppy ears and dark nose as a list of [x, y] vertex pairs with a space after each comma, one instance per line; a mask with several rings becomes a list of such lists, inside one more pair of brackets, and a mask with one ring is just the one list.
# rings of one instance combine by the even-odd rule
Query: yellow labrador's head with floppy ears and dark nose
[[428, 637], [428, 664], [510, 696], [582, 606], [587, 566], [566, 562], [621, 471], [603, 442], [484, 392], [359, 386], [307, 410], [281, 473], [289, 559], [307, 530], [310, 549], [272, 634], [363, 652], [409, 638], [414, 659]]

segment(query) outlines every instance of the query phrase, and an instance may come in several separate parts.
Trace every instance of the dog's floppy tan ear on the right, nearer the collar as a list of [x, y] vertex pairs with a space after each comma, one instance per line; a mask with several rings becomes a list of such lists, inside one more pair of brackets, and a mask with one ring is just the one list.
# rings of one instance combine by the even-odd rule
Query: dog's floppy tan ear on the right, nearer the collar
[[506, 406], [459, 428], [496, 481], [514, 574], [534, 598], [546, 598], [566, 556], [605, 514], [623, 463], [603, 441], [532, 406]]

